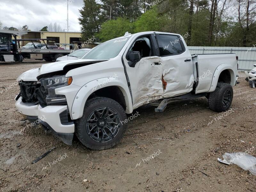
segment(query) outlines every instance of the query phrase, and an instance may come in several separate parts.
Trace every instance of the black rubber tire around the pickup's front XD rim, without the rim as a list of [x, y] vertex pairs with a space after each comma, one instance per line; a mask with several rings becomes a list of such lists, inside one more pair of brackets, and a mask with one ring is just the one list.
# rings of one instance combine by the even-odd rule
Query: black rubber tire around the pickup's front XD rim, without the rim
[[84, 106], [83, 116], [75, 121], [75, 133], [82, 144], [84, 144], [87, 148], [93, 150], [112, 148], [120, 142], [127, 128], [127, 125], [125, 123], [120, 123], [119, 131], [117, 132], [116, 136], [111, 140], [107, 142], [98, 142], [93, 140], [87, 133], [86, 122], [90, 114], [100, 107], [109, 107], [115, 110], [117, 115], [119, 116], [120, 122], [124, 122], [124, 120], [126, 119], [124, 108], [115, 100], [106, 97], [97, 97], [88, 100]]

